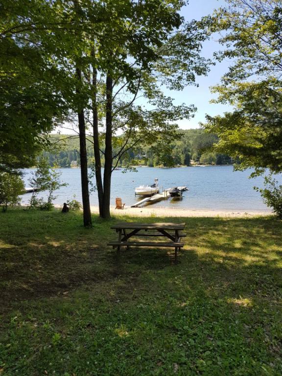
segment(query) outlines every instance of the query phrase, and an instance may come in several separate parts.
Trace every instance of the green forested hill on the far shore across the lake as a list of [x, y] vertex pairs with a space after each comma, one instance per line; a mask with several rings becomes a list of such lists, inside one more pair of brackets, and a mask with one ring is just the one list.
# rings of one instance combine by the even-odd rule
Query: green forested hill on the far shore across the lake
[[[190, 164], [232, 164], [233, 161], [225, 154], [218, 154], [207, 148], [218, 141], [215, 134], [205, 133], [202, 129], [180, 130], [182, 136], [180, 140], [173, 141], [170, 147], [170, 155], [165, 160], [157, 156], [151, 147], [139, 147], [130, 150], [126, 157], [120, 161], [119, 165], [143, 164], [147, 166], [158, 166], [166, 164], [190, 165]], [[62, 167], [75, 166], [80, 164], [79, 139], [70, 135], [50, 135], [52, 148], [45, 151], [44, 155], [50, 164], [57, 164]], [[103, 150], [103, 146], [101, 147]], [[94, 149], [91, 141], [87, 142], [88, 163], [94, 162]], [[104, 162], [103, 155], [102, 164]], [[168, 162], [169, 161], [169, 162]]]

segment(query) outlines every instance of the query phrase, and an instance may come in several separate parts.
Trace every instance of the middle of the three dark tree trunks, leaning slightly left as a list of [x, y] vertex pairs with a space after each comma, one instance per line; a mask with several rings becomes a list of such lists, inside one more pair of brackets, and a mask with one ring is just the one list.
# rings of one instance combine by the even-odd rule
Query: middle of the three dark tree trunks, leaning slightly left
[[[94, 57], [94, 50], [91, 55]], [[99, 131], [98, 131], [98, 110], [97, 110], [97, 70], [93, 62], [93, 79], [92, 79], [92, 111], [93, 111], [93, 142], [94, 142], [94, 158], [95, 158], [95, 178], [99, 202], [99, 215], [102, 217], [103, 212], [103, 183], [101, 173], [101, 157], [99, 145]]]

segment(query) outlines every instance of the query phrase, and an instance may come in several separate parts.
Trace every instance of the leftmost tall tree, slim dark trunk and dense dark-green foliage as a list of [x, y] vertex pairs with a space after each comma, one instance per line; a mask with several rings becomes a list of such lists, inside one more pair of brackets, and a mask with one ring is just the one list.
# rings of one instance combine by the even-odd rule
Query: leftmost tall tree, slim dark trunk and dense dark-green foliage
[[[84, 98], [79, 71], [85, 44], [81, 36], [89, 27], [94, 29], [95, 19], [89, 26], [89, 19], [81, 16], [79, 3], [80, 0], [1, 2], [7, 17], [1, 18], [0, 35], [2, 82], [6, 84], [0, 98], [4, 110], [4, 141], [0, 147], [5, 152], [3, 163], [8, 167], [32, 164], [39, 149], [46, 146], [45, 134], [71, 112], [78, 115], [83, 130]], [[94, 5], [93, 1], [85, 3], [89, 9]], [[81, 133], [83, 217], [88, 226], [91, 213], [83, 137]], [[17, 146], [13, 140], [19, 140]]]

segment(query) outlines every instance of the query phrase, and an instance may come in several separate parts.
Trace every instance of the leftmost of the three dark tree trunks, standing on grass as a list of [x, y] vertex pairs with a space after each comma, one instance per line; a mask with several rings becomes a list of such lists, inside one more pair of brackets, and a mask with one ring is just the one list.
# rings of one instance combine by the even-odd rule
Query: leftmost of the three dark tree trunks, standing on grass
[[[76, 76], [81, 81], [81, 70], [76, 68]], [[76, 88], [76, 93], [80, 94], [80, 89]], [[89, 189], [88, 189], [88, 170], [87, 170], [87, 149], [85, 134], [85, 118], [84, 109], [77, 109], [78, 128], [79, 128], [79, 146], [80, 146], [80, 173], [81, 173], [81, 190], [83, 205], [83, 224], [84, 227], [92, 226], [92, 218], [90, 211]]]

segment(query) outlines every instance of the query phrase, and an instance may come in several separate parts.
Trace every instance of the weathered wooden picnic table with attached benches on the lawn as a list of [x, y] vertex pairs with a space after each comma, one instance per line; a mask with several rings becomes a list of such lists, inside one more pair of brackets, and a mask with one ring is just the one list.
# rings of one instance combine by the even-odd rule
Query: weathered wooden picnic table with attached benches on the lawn
[[[184, 246], [180, 241], [181, 237], [186, 236], [182, 231], [185, 228], [185, 223], [136, 223], [136, 222], [121, 222], [112, 226], [111, 229], [118, 233], [117, 241], [110, 241], [108, 245], [118, 249], [125, 246], [129, 249], [130, 246], [135, 247], [172, 247], [174, 248], [174, 259], [177, 261], [177, 251]], [[164, 237], [165, 241], [128, 241], [131, 237]], [[158, 239], [157, 239], [158, 240]], [[168, 241], [169, 240], [169, 241]]]

